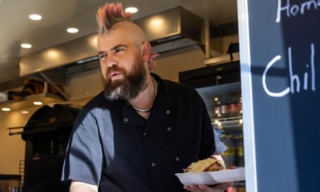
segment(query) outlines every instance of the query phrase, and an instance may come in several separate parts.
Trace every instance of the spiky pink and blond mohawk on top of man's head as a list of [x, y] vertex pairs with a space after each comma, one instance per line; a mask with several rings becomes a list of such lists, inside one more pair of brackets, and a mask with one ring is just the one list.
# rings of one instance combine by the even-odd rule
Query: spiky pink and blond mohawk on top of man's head
[[122, 3], [106, 3], [96, 12], [99, 34], [108, 32], [114, 24], [123, 21], [131, 21], [131, 13], [123, 11]]

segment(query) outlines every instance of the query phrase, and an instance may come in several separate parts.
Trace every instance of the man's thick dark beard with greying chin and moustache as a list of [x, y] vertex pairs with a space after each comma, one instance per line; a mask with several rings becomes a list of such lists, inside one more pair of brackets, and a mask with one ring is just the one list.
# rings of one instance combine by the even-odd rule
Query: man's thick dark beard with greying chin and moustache
[[[111, 71], [121, 71], [124, 75], [123, 80], [115, 80], [112, 82], [111, 79], [105, 82], [104, 96], [108, 100], [130, 100], [139, 95], [141, 91], [146, 88], [146, 69], [143, 63], [137, 62], [132, 68], [132, 73], [127, 74], [126, 71], [117, 66], [113, 66], [108, 69]], [[108, 72], [108, 73], [110, 73]], [[107, 74], [107, 77], [109, 75]]]

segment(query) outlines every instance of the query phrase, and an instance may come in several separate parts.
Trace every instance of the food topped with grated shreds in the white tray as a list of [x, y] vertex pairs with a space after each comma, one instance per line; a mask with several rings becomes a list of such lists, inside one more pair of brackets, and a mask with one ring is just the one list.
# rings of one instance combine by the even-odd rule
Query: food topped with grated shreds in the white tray
[[205, 160], [192, 162], [184, 171], [187, 173], [199, 173], [206, 171], [219, 171], [225, 169], [224, 162], [215, 157], [210, 157]]

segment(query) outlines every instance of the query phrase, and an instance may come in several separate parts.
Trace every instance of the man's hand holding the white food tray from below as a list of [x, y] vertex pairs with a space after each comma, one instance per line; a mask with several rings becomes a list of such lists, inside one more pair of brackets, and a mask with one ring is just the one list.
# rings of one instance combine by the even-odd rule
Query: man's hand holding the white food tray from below
[[206, 185], [188, 185], [183, 188], [190, 192], [224, 192], [228, 187], [231, 186], [231, 183], [222, 183], [214, 186], [206, 186]]

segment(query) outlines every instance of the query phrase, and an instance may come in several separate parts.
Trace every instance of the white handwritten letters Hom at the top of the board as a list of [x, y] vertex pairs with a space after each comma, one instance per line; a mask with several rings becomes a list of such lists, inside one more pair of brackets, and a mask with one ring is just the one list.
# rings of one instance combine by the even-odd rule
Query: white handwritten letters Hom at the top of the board
[[320, 9], [320, 0], [307, 0], [300, 4], [290, 4], [290, 0], [286, 0], [286, 5], [282, 6], [282, 0], [278, 0], [277, 5], [277, 17], [276, 22], [281, 22], [281, 13], [282, 11], [286, 12], [287, 17], [296, 16], [298, 14], [304, 15], [306, 11], [319, 10]]

